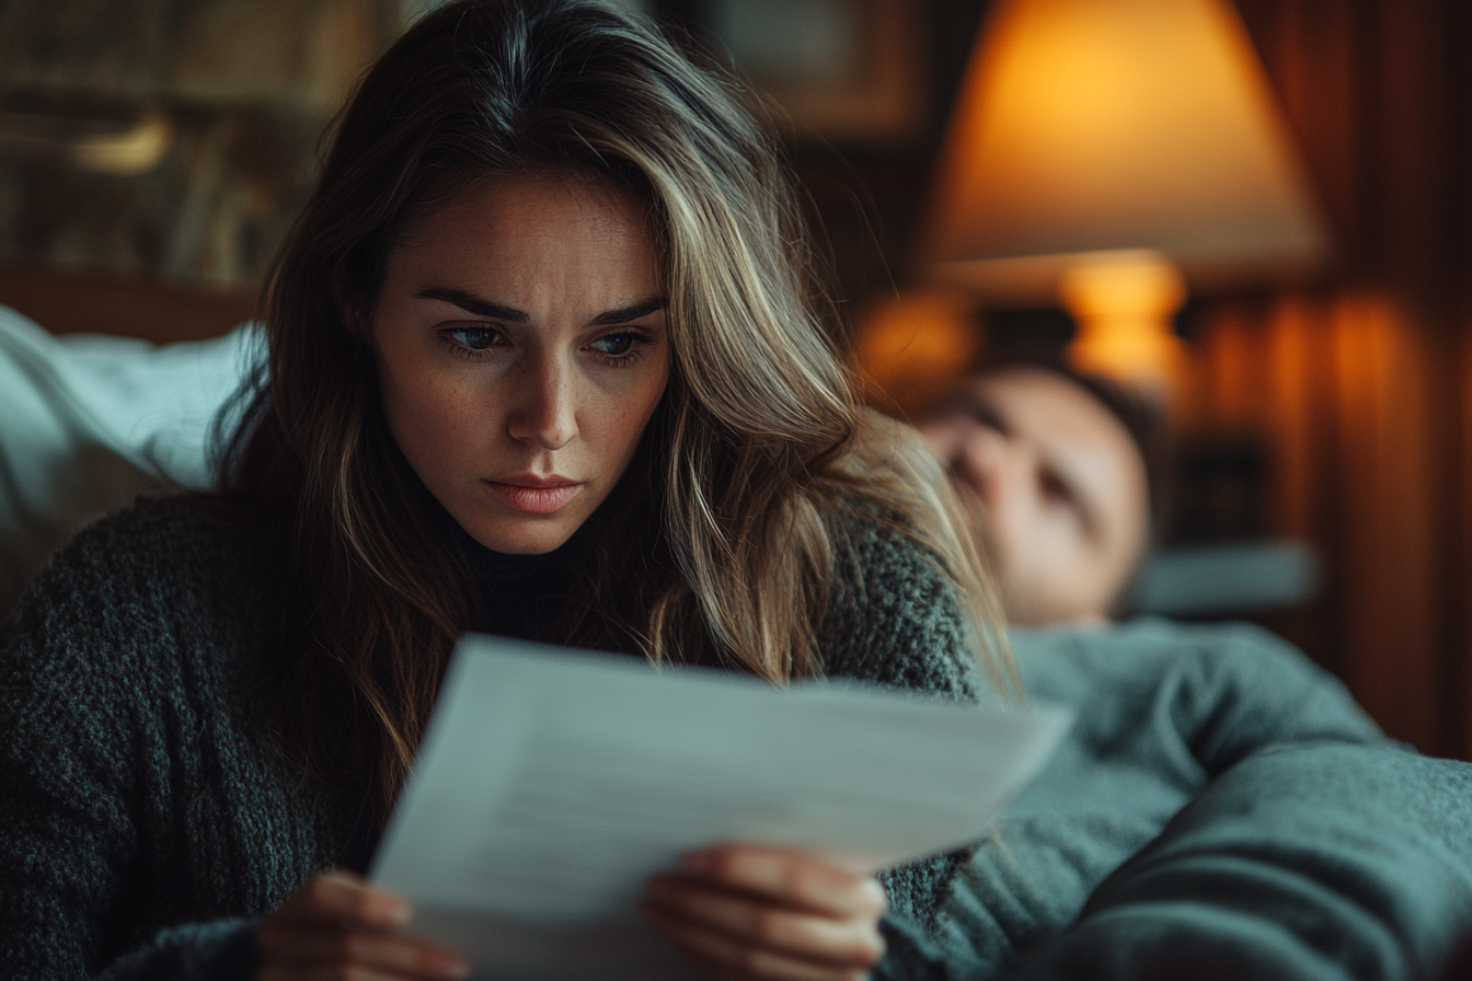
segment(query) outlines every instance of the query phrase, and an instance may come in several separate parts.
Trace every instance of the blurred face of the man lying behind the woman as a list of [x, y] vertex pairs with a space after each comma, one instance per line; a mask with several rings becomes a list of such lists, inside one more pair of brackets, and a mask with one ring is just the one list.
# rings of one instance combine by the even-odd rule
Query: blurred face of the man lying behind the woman
[[973, 378], [920, 425], [1013, 624], [1104, 622], [1145, 547], [1145, 465], [1119, 419], [1042, 369]]

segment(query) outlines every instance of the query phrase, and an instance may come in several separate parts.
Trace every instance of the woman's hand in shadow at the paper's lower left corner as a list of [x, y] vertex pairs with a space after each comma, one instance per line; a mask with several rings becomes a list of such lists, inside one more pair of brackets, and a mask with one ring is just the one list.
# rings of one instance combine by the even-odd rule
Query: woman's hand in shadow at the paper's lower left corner
[[347, 872], [322, 872], [256, 927], [258, 981], [425, 981], [464, 978], [470, 965], [394, 937], [409, 905]]

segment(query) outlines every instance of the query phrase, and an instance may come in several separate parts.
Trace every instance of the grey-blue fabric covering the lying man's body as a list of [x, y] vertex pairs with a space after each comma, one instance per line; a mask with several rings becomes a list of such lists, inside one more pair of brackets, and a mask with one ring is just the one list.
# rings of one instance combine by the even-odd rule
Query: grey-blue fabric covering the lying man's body
[[1391, 743], [1248, 627], [1013, 637], [1075, 731], [1001, 816], [939, 941], [888, 978], [1426, 978], [1472, 930], [1472, 765]]

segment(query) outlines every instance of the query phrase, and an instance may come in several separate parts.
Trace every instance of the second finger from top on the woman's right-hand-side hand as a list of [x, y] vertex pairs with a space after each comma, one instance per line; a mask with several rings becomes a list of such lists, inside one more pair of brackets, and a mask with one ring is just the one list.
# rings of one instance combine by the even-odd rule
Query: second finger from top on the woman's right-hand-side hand
[[657, 913], [690, 928], [804, 960], [867, 969], [885, 955], [877, 916], [815, 915], [677, 875], [651, 880], [648, 897]]

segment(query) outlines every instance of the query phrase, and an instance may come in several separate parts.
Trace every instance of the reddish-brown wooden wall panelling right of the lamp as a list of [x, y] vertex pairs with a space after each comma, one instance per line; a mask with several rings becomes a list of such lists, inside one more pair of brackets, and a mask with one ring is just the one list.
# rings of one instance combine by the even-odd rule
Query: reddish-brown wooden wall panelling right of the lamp
[[1328, 569], [1292, 640], [1472, 759], [1472, 4], [1236, 1], [1337, 254], [1203, 303], [1183, 427], [1269, 441], [1272, 529]]

